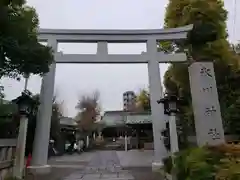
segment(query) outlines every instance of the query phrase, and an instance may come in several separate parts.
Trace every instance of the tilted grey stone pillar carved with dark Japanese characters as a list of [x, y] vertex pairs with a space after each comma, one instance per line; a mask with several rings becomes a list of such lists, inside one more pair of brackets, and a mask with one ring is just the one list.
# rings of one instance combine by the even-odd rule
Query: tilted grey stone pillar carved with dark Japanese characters
[[212, 62], [194, 62], [189, 79], [199, 146], [225, 142], [217, 85]]

